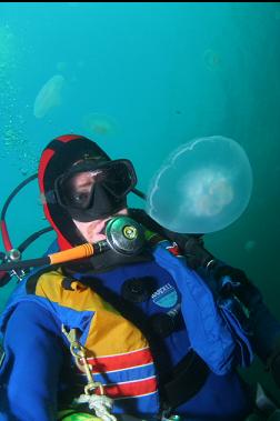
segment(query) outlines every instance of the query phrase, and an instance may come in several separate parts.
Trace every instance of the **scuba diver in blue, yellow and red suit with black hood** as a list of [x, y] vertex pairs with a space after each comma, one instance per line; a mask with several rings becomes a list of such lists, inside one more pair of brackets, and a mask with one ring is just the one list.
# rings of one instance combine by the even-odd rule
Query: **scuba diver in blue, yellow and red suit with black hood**
[[238, 367], [257, 353], [280, 384], [280, 324], [246, 274], [130, 209], [132, 163], [84, 137], [52, 140], [38, 178], [57, 234], [46, 255], [94, 251], [33, 269], [10, 298], [0, 420], [244, 420]]

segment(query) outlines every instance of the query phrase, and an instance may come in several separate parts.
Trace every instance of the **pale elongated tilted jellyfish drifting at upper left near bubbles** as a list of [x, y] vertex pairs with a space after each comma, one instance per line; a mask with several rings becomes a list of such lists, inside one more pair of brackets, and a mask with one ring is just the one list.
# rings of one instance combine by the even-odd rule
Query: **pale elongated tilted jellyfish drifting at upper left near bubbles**
[[41, 119], [52, 108], [60, 106], [63, 84], [64, 78], [56, 74], [41, 88], [34, 101], [33, 114], [37, 119]]

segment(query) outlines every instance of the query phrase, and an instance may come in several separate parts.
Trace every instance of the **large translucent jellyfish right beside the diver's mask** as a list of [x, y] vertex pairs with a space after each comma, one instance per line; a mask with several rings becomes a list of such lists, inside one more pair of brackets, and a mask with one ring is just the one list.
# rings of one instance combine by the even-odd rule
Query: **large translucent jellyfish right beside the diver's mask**
[[220, 136], [194, 139], [153, 177], [147, 212], [171, 231], [214, 232], [241, 215], [251, 191], [251, 166], [239, 143]]

